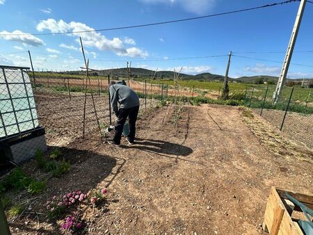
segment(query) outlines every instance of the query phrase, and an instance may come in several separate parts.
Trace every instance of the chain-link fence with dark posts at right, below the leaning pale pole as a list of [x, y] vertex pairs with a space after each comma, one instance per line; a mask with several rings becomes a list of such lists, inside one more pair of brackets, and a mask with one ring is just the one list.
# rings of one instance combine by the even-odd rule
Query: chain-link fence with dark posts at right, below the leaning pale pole
[[313, 147], [313, 89], [285, 86], [276, 104], [274, 91], [274, 86], [248, 87], [244, 104], [291, 138]]

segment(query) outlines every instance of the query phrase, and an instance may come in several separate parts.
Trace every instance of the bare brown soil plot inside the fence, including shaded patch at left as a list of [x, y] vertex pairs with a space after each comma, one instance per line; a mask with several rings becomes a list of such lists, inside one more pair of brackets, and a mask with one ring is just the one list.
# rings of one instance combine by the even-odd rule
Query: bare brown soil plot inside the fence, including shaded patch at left
[[[113, 147], [89, 133], [64, 147], [72, 170], [49, 181], [33, 210], [56, 193], [106, 186], [107, 208], [84, 214], [88, 234], [264, 234], [271, 186], [312, 193], [312, 149], [262, 118], [188, 106], [176, 125], [174, 108], [142, 115], [136, 145]], [[10, 226], [14, 234], [61, 234], [31, 216]]]

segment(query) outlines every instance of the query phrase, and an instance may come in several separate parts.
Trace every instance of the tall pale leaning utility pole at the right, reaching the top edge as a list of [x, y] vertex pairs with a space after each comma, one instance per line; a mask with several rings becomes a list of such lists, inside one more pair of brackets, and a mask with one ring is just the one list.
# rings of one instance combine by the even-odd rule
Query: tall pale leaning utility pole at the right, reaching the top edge
[[303, 12], [305, 10], [306, 2], [307, 0], [301, 0], [300, 2], [300, 6], [299, 6], [298, 13], [296, 16], [296, 22], [294, 22], [294, 29], [292, 29], [286, 55], [284, 56], [284, 63], [282, 64], [282, 71], [280, 72], [280, 77], [278, 79], [278, 83], [277, 83], [275, 92], [273, 94], [273, 104], [277, 104], [280, 94], [282, 92], [282, 87], [284, 86], [284, 81], [286, 80], [290, 60], [292, 57], [292, 53], [294, 52], [294, 44], [296, 44], [296, 39], [297, 39], [298, 31], [300, 28], [301, 19], [303, 17]]

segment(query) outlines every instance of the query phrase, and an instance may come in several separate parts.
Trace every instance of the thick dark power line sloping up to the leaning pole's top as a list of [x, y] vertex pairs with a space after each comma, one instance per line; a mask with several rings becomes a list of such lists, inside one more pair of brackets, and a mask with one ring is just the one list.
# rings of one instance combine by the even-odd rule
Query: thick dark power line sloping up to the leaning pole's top
[[140, 27], [146, 27], [146, 26], [154, 26], [154, 25], [160, 25], [160, 24], [171, 24], [171, 23], [177, 23], [177, 22], [186, 22], [186, 21], [191, 21], [195, 19], [204, 19], [204, 18], [209, 18], [209, 17], [217, 17], [221, 15], [230, 15], [234, 13], [242, 13], [248, 10], [257, 10], [261, 8], [269, 8], [272, 6], [278, 6], [282, 4], [287, 4], [295, 1], [300, 1], [300, 0], [289, 0], [289, 1], [281, 1], [278, 3], [271, 3], [263, 6], [257, 6], [253, 8], [245, 8], [241, 10], [232, 10], [232, 11], [227, 11], [225, 13], [216, 13], [212, 15], [203, 15], [200, 17], [190, 17], [190, 18], [184, 18], [184, 19], [174, 19], [166, 22], [155, 22], [155, 23], [150, 23], [150, 24], [137, 24], [137, 25], [131, 25], [131, 26], [120, 26], [116, 28], [106, 28], [106, 29], [93, 29], [93, 30], [86, 30], [86, 31], [75, 31], [75, 32], [58, 32], [58, 33], [0, 33], [0, 35], [57, 35], [57, 34], [73, 34], [73, 33], [90, 33], [90, 32], [100, 32], [100, 31], [114, 31], [114, 30], [121, 30], [121, 29], [133, 29], [133, 28], [140, 28]]

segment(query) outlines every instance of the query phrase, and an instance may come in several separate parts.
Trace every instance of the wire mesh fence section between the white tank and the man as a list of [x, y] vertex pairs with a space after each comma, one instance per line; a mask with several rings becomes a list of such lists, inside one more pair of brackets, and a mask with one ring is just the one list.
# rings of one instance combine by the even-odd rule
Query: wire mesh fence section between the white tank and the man
[[[33, 73], [30, 73], [33, 76]], [[90, 73], [35, 72], [34, 97], [50, 145], [66, 145], [109, 124], [108, 79]], [[85, 128], [84, 128], [85, 127]]]

